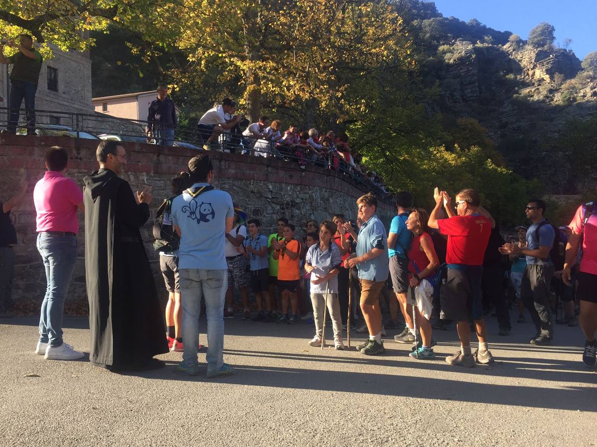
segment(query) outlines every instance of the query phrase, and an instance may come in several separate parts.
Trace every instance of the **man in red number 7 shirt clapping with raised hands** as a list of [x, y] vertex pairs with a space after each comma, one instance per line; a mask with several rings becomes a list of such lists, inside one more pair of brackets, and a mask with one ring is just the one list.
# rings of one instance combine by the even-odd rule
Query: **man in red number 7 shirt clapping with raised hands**
[[[460, 350], [446, 357], [450, 365], [472, 368], [476, 363], [491, 363], [493, 356], [487, 347], [487, 328], [483, 320], [481, 275], [483, 258], [491, 229], [496, 226], [489, 212], [481, 206], [479, 193], [474, 189], [463, 189], [456, 195], [456, 212], [451, 209], [452, 199], [447, 192], [435, 188], [435, 208], [429, 216], [429, 227], [436, 228], [448, 236], [446, 263], [448, 278], [441, 288], [442, 319], [456, 320]], [[439, 218], [444, 205], [447, 219]], [[470, 352], [469, 319], [475, 322], [479, 349]]]

